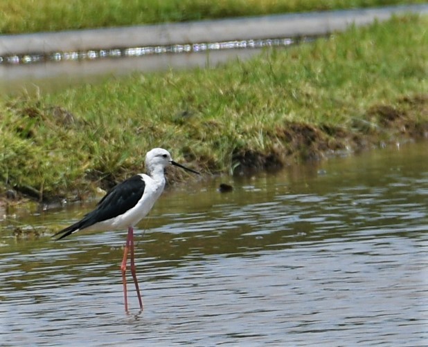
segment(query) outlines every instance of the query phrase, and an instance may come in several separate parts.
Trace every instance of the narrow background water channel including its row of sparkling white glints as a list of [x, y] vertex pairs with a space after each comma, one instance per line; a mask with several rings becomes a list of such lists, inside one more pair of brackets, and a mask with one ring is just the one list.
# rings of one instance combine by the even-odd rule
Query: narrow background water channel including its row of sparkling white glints
[[[76, 32], [76, 35], [79, 34]], [[37, 94], [41, 89], [53, 91], [82, 82], [100, 82], [106, 75], [165, 71], [168, 68], [210, 68], [232, 59], [250, 59], [267, 48], [308, 43], [316, 37], [321, 35], [0, 55], [0, 92], [11, 95], [25, 90]]]

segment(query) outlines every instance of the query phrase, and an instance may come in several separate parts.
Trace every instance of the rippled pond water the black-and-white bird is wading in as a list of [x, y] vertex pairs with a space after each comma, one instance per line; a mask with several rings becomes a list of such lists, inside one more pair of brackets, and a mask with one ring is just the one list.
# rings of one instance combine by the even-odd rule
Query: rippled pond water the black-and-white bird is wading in
[[136, 232], [129, 315], [125, 231], [17, 241], [5, 221], [0, 344], [426, 346], [427, 206], [427, 142], [168, 191]]

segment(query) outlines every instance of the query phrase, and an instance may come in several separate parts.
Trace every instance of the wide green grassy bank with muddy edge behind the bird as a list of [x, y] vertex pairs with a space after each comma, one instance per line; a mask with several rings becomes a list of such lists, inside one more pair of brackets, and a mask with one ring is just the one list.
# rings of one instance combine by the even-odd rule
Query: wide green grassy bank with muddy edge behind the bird
[[422, 136], [427, 27], [427, 17], [393, 19], [220, 68], [1, 100], [0, 189], [49, 198], [107, 188], [141, 172], [152, 147], [232, 172]]

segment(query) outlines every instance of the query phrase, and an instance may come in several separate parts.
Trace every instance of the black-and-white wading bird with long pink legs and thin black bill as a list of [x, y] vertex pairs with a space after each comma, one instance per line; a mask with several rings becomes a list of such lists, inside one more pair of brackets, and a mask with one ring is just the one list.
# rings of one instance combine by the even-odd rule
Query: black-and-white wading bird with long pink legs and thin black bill
[[119, 183], [107, 192], [93, 211], [85, 214], [80, 221], [53, 235], [53, 237], [59, 236], [56, 238], [56, 241], [58, 241], [75, 232], [84, 230], [116, 230], [127, 228], [127, 239], [121, 263], [125, 312], [129, 312], [126, 283], [128, 254], [130, 254], [130, 271], [139, 299], [140, 310], [141, 312], [143, 311], [143, 301], [136, 278], [134, 260], [134, 227], [141, 219], [147, 216], [156, 200], [161, 196], [166, 183], [164, 170], [170, 165], [175, 165], [198, 175], [200, 174], [172, 160], [170, 153], [166, 149], [154, 148], [148, 151], [145, 156], [147, 174], [138, 173]]

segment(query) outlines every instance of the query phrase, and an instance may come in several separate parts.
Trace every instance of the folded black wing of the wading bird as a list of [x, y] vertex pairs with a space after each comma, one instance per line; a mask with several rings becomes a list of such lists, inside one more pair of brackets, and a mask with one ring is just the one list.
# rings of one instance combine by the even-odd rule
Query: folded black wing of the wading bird
[[99, 201], [96, 209], [86, 214], [81, 221], [62, 229], [53, 236], [60, 235], [57, 240], [69, 236], [73, 232], [90, 227], [91, 225], [120, 216], [132, 209], [143, 196], [145, 182], [140, 175], [132, 176], [113, 187]]

